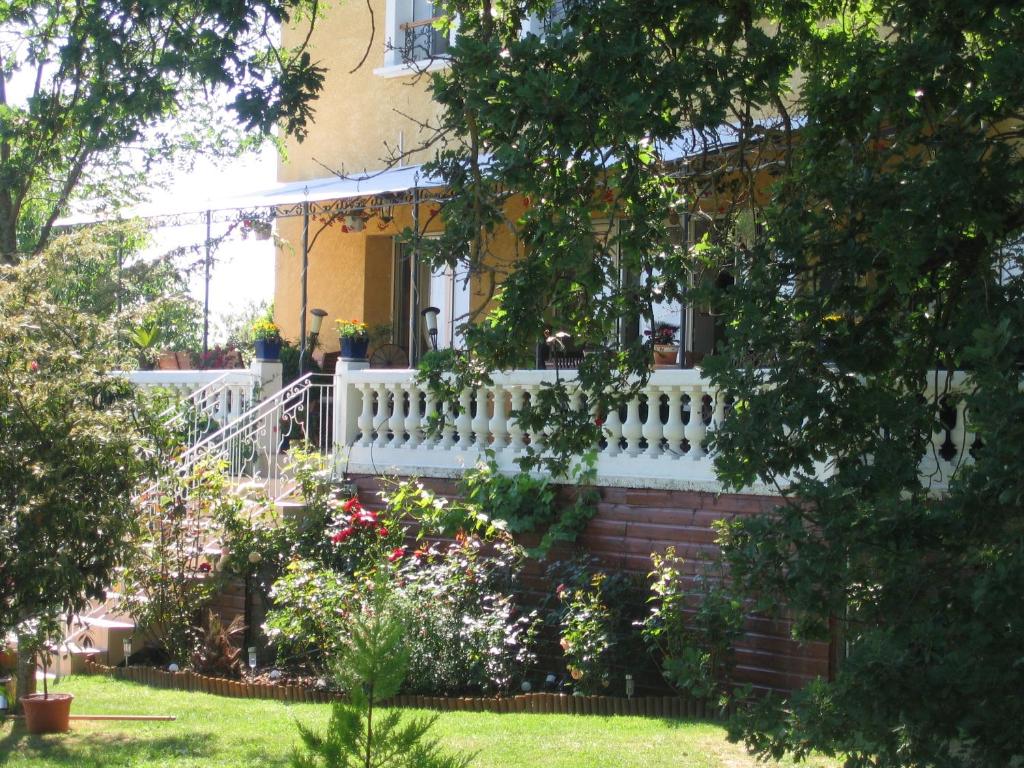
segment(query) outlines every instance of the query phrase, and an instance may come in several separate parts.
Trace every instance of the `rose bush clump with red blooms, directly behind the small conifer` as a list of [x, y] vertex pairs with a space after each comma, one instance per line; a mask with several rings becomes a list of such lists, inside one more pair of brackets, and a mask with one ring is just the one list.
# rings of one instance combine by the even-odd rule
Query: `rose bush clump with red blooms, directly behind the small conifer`
[[[536, 616], [511, 588], [524, 557], [510, 536], [467, 510], [453, 512], [417, 483], [401, 483], [380, 511], [335, 498], [315, 471], [300, 478], [321, 544], [301, 548], [273, 585], [266, 630], [282, 658], [326, 669], [347, 636], [361, 587], [385, 579], [400, 606], [411, 662], [407, 687], [430, 692], [507, 689], [534, 659]], [[311, 500], [311, 501], [310, 501]], [[410, 520], [420, 525], [409, 542]], [[447, 545], [422, 537], [464, 523]]]

